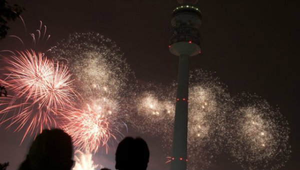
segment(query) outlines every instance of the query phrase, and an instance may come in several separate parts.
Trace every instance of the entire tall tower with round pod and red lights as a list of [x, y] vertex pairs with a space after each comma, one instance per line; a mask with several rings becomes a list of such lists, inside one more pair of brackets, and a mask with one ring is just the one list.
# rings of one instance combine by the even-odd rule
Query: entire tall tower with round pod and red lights
[[172, 141], [171, 169], [186, 169], [188, 120], [188, 60], [201, 53], [201, 12], [195, 7], [197, 0], [177, 0], [173, 10], [169, 50], [179, 56], [178, 87]]

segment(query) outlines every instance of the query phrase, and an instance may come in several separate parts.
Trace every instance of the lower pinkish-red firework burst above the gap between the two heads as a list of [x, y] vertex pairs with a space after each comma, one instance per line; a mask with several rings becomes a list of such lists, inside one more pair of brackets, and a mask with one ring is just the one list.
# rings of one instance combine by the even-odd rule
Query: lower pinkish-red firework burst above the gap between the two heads
[[92, 106], [87, 104], [84, 110], [66, 111], [62, 128], [71, 135], [78, 149], [96, 152], [99, 147], [105, 147], [107, 153], [107, 142], [123, 137], [119, 129], [126, 125], [120, 121], [121, 117], [113, 115], [111, 106], [103, 101]]

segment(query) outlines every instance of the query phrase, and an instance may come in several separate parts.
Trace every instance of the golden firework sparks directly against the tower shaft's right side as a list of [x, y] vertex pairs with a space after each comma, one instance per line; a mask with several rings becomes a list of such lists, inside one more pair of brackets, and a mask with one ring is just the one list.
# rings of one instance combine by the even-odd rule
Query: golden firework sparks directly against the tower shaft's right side
[[190, 74], [187, 149], [193, 156], [188, 156], [189, 168], [207, 168], [220, 153], [232, 104], [226, 86], [211, 73], [195, 70]]

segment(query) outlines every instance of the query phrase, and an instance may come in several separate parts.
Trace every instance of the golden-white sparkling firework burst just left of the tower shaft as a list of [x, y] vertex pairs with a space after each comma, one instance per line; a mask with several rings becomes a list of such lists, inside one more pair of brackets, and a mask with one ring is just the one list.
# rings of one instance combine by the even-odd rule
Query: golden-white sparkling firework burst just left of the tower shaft
[[[159, 87], [163, 88], [162, 86]], [[139, 88], [142, 88], [142, 92], [137, 96], [136, 103], [132, 104], [136, 107], [136, 111], [127, 117], [127, 121], [143, 133], [165, 135], [167, 131], [170, 132], [168, 130], [170, 129], [169, 123], [173, 123], [174, 114], [172, 93], [163, 93], [158, 86], [152, 84]]]

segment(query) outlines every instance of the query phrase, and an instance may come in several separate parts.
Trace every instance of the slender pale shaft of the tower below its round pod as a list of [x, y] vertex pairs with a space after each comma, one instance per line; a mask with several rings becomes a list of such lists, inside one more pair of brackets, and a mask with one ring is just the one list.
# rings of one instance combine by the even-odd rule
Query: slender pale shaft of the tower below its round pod
[[172, 142], [171, 169], [186, 169], [188, 119], [188, 55], [179, 56], [178, 87]]

